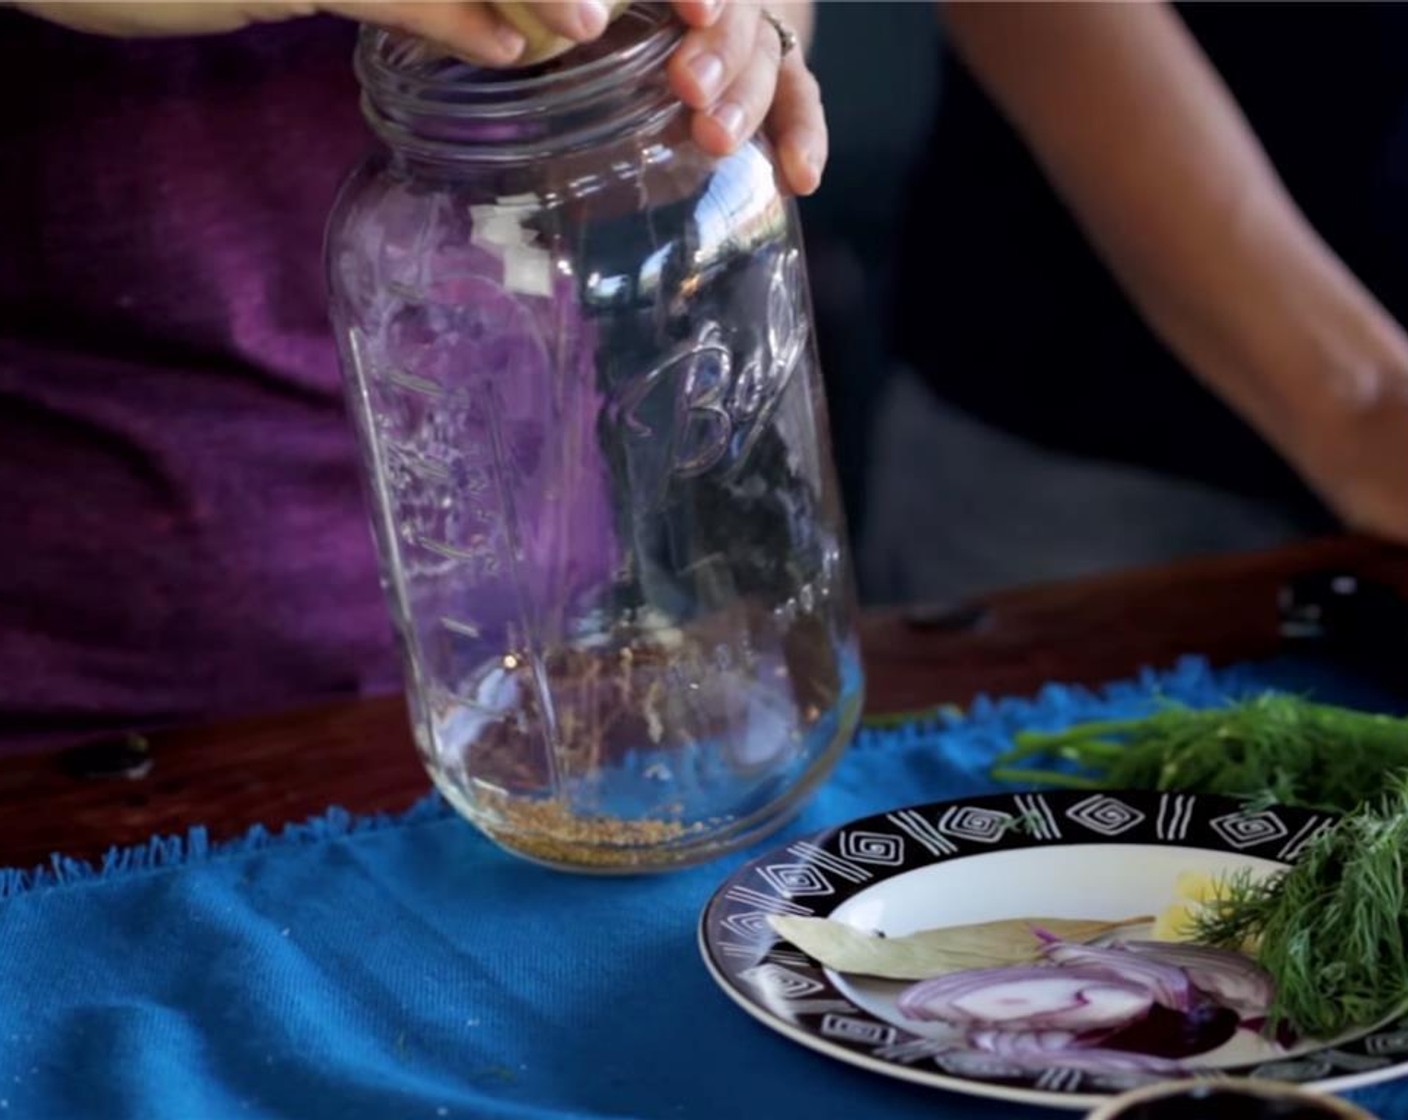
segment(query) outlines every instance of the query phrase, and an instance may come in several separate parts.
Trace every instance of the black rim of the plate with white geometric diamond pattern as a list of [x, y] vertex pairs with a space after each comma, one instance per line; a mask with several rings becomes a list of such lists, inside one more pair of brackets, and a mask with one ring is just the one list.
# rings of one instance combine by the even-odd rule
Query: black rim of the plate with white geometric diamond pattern
[[[815, 961], [781, 941], [769, 914], [825, 917], [876, 882], [949, 859], [1071, 844], [1148, 844], [1240, 852], [1291, 862], [1333, 819], [1187, 793], [1045, 792], [914, 806], [853, 821], [741, 868], [704, 913], [701, 941], [715, 973], [739, 997], [828, 1048], [910, 1071], [936, 1083], [981, 1081], [1056, 1096], [1115, 1093], [1139, 1083], [1126, 1071], [1032, 1071], [1001, 1057], [911, 1034], [856, 1007]], [[1359, 1040], [1218, 1075], [1318, 1081], [1408, 1065], [1408, 1020]], [[1214, 1071], [1207, 1071], [1214, 1075]], [[912, 1074], [911, 1074], [912, 1075]], [[1201, 1076], [1201, 1074], [1200, 1074]]]

